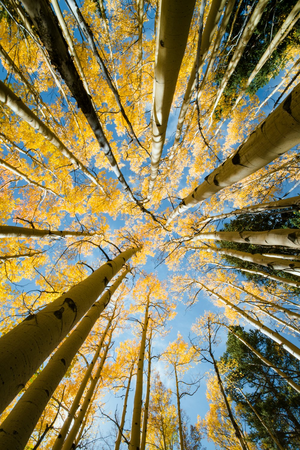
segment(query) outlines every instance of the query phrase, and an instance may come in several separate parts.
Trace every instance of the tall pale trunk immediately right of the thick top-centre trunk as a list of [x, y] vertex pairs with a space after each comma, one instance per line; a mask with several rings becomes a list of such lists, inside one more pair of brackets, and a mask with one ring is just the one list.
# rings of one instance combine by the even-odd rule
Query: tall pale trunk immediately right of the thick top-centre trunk
[[[204, 30], [202, 33], [198, 71], [201, 69], [201, 67], [203, 66], [203, 64], [205, 62], [206, 55], [208, 53], [210, 44], [215, 35], [215, 31], [217, 29], [219, 19], [221, 17], [225, 3], [226, 2], [224, 0], [212, 0], [212, 2], [210, 4], [210, 9], [209, 9], [205, 27], [204, 27]], [[184, 94], [184, 99], [183, 99], [181, 109], [179, 112], [179, 118], [178, 118], [178, 123], [177, 123], [174, 144], [173, 144], [173, 147], [172, 147], [169, 157], [168, 157], [167, 172], [170, 170], [170, 166], [172, 164], [172, 159], [174, 158], [177, 147], [179, 145], [179, 139], [180, 139], [180, 136], [182, 133], [182, 128], [184, 126], [184, 119], [185, 119], [186, 113], [188, 111], [188, 106], [190, 104], [190, 101], [192, 99], [195, 85], [196, 85], [196, 59], [195, 59], [191, 74], [188, 79], [188, 85], [187, 85], [187, 88], [186, 88], [186, 91]]]

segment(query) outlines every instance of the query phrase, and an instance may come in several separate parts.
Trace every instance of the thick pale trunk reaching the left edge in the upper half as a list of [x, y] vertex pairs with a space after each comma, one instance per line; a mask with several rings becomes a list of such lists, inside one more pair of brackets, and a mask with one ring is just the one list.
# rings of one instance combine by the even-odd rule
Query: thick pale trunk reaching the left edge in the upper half
[[97, 178], [71, 153], [62, 141], [50, 130], [50, 128], [43, 123], [34, 112], [31, 111], [25, 103], [22, 102], [20, 97], [13, 93], [12, 90], [7, 87], [3, 81], [0, 81], [0, 100], [6, 104], [15, 114], [26, 121], [32, 128], [38, 131], [45, 137], [51, 144], [56, 147], [63, 156], [65, 156], [75, 167], [78, 167], [94, 184], [100, 187], [104, 192], [103, 187], [97, 180]]

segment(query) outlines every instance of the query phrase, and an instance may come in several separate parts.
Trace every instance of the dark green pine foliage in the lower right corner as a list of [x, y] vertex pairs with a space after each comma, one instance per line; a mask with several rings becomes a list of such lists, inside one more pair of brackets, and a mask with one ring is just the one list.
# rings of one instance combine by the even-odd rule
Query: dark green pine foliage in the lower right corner
[[[300, 361], [258, 330], [246, 332], [239, 326], [233, 327], [233, 330], [265, 358], [293, 378], [295, 383], [300, 384]], [[278, 450], [266, 428], [233, 385], [242, 390], [264, 422], [273, 430], [283, 448], [298, 450], [300, 448], [300, 394], [260, 361], [232, 333], [228, 333], [226, 352], [221, 359], [225, 363], [234, 360], [234, 369], [225, 378], [226, 392], [233, 401], [242, 405], [242, 416], [250, 429], [250, 439], [256, 444], [263, 444], [263, 448]]]

